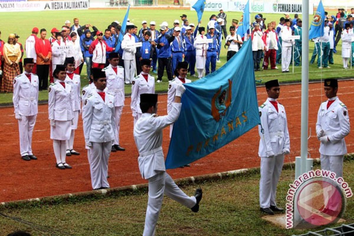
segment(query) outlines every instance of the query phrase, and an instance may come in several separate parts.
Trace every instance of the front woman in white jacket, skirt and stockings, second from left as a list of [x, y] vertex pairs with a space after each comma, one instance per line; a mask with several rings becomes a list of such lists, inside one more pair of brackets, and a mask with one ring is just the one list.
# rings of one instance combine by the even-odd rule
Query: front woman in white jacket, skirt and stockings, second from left
[[74, 123], [72, 86], [64, 82], [67, 74], [64, 65], [57, 65], [53, 71], [55, 82], [49, 86], [48, 113], [50, 120], [50, 138], [53, 139], [54, 155], [59, 169], [71, 169], [66, 163], [66, 141], [70, 139]]

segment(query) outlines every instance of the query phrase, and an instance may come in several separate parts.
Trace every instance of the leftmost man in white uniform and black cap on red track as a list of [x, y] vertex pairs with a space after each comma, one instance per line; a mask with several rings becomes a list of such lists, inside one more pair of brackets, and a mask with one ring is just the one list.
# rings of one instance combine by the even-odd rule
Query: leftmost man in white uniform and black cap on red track
[[32, 73], [33, 58], [23, 60], [24, 72], [13, 80], [13, 107], [18, 120], [20, 152], [25, 161], [37, 160], [32, 153], [32, 133], [38, 114], [38, 76]]

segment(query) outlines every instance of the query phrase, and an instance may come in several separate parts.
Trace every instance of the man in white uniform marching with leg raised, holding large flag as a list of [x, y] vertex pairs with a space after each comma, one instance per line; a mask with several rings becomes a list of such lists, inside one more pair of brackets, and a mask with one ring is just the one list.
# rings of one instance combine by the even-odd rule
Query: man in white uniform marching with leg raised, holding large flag
[[138, 164], [141, 176], [149, 181], [148, 206], [146, 210], [143, 236], [154, 236], [155, 226], [159, 218], [164, 194], [173, 200], [199, 211], [202, 190], [197, 189], [195, 195], [187, 196], [169, 174], [166, 173], [164, 153], [162, 151], [162, 129], [178, 119], [181, 111], [181, 96], [185, 88], [179, 84], [176, 88], [175, 102], [166, 116], [158, 116], [157, 94], [141, 94], [141, 118], [134, 125], [134, 140], [139, 151]]

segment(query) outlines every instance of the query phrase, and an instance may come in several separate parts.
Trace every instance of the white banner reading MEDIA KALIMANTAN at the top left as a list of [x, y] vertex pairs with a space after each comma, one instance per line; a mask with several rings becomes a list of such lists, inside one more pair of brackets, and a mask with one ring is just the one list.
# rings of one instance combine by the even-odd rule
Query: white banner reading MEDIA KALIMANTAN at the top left
[[1, 2], [0, 12], [21, 11], [52, 11], [52, 10], [81, 10], [88, 9], [89, 1], [28, 1], [28, 2]]

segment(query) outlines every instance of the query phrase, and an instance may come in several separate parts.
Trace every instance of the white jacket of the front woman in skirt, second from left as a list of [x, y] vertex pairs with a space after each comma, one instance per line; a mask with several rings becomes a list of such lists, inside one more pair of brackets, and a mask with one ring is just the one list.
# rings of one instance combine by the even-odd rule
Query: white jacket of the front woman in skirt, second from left
[[73, 108], [71, 101], [71, 85], [65, 82], [65, 88], [60, 80], [49, 86], [48, 113], [49, 120], [68, 121], [73, 120]]

